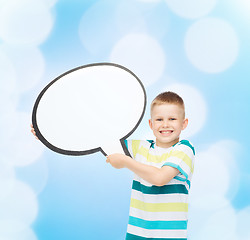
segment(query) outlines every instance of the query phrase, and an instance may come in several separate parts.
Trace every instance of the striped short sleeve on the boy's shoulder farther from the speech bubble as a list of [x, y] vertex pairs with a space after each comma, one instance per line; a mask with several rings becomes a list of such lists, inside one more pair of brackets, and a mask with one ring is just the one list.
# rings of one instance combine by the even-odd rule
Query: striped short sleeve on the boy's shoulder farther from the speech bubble
[[173, 147], [163, 166], [177, 168], [180, 173], [175, 178], [180, 181], [187, 181], [194, 171], [194, 157], [193, 145], [187, 140], [182, 140]]

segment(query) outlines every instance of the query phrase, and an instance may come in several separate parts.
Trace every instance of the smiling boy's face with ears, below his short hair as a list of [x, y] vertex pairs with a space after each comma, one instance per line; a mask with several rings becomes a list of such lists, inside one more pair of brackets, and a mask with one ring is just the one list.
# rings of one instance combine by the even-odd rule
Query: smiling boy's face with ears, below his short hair
[[164, 103], [155, 105], [151, 111], [149, 126], [153, 130], [158, 147], [169, 148], [176, 144], [187, 124], [184, 110], [179, 105]]

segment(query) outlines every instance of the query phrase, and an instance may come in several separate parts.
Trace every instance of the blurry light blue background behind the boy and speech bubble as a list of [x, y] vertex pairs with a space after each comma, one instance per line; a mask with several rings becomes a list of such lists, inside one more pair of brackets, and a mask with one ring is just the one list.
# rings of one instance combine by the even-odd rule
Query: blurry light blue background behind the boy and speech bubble
[[[1, 152], [3, 154], [0, 179], [3, 179], [1, 186], [8, 191], [5, 193], [2, 190], [3, 193], [0, 195], [0, 215], [1, 212], [8, 212], [8, 209], [14, 209], [15, 214], [2, 214], [0, 221], [3, 223], [2, 226], [9, 226], [9, 221], [14, 221], [22, 223], [22, 227], [0, 229], [0, 238], [16, 240], [124, 239], [132, 173], [126, 169], [119, 171], [112, 169], [105, 163], [105, 157], [101, 153], [72, 157], [52, 152], [31, 136], [29, 124], [34, 101], [43, 87], [51, 80], [72, 68], [89, 63], [116, 62], [126, 65], [126, 61], [124, 60], [124, 62], [122, 57], [119, 61], [119, 58], [112, 57], [112, 53], [121, 39], [129, 34], [138, 34], [154, 39], [157, 46], [160, 46], [161, 53], [166, 56], [161, 76], [151, 82], [150, 80], [145, 81], [148, 102], [156, 94], [167, 90], [168, 86], [173, 84], [188, 85], [200, 94], [205, 102], [206, 114], [199, 130], [190, 136], [190, 140], [197, 150], [195, 171], [198, 172], [199, 167], [202, 168], [202, 161], [198, 164], [200, 159], [209, 159], [212, 164], [205, 164], [204, 166], [211, 168], [206, 168], [206, 171], [203, 170], [203, 172], [201, 170], [202, 173], [207, 173], [207, 176], [197, 174], [197, 178], [199, 176], [202, 181], [208, 182], [208, 185], [211, 181], [213, 186], [217, 186], [215, 195], [220, 192], [218, 189], [221, 187], [221, 181], [227, 185], [221, 187], [224, 190], [220, 196], [226, 201], [225, 204], [220, 205], [215, 201], [215, 204], [208, 208], [204, 206], [199, 208], [196, 205], [197, 201], [199, 202], [196, 191], [199, 188], [202, 189], [204, 185], [199, 185], [200, 180], [194, 180], [197, 187], [193, 191], [194, 197], [190, 199], [189, 238], [192, 240], [211, 239], [211, 236], [217, 235], [218, 239], [219, 237], [234, 240], [249, 239], [250, 231], [246, 222], [250, 220], [248, 153], [250, 146], [250, 4], [243, 0], [213, 1], [214, 6], [199, 15], [197, 14], [200, 11], [199, 4], [195, 1], [186, 1], [189, 2], [189, 5], [193, 4], [194, 9], [197, 5], [197, 9], [194, 11], [197, 15], [188, 16], [185, 15], [185, 8], [182, 9], [183, 14], [180, 14], [170, 7], [169, 1], [163, 0], [58, 0], [53, 3], [37, 0], [44, 6], [46, 10], [44, 11], [49, 14], [48, 17], [42, 12], [39, 21], [34, 20], [36, 24], [39, 23], [43, 26], [49, 19], [48, 25], [45, 25], [47, 31], [43, 32], [41, 28], [42, 35], [38, 37], [32, 29], [33, 27], [39, 29], [40, 25], [31, 26], [32, 18], [36, 18], [31, 13], [33, 10], [40, 10], [29, 5], [28, 0], [19, 1], [18, 5], [14, 5], [12, 2], [15, 1], [3, 1], [0, 5], [0, 20], [2, 20], [0, 55], [4, 54], [9, 59], [13, 68], [7, 70], [13, 71], [15, 74], [15, 81], [9, 86], [8, 74], [10, 72], [4, 72], [6, 61], [0, 61], [2, 64], [0, 66], [1, 88], [5, 89], [3, 86], [9, 86], [7, 90], [13, 89], [13, 91], [1, 92], [0, 132], [2, 133]], [[177, 4], [176, 8], [183, 5], [183, 1], [178, 2], [179, 7]], [[207, 1], [204, 1], [204, 6], [207, 4], [205, 2]], [[7, 8], [13, 9], [7, 11]], [[23, 14], [23, 9], [27, 9], [27, 13]], [[5, 12], [8, 14], [4, 15]], [[17, 22], [27, 24], [20, 31], [17, 31], [19, 29], [17, 22], [6, 20], [6, 16], [9, 16], [8, 19], [14, 19], [12, 12], [15, 12], [15, 16], [21, 12]], [[29, 17], [28, 22], [23, 20], [26, 16]], [[43, 21], [43, 18], [47, 20]], [[229, 45], [223, 52], [226, 57], [218, 56], [221, 59], [217, 64], [219, 70], [213, 67], [209, 68], [210, 70], [199, 67], [199, 61], [204, 61], [206, 66], [209, 64], [209, 59], [196, 59], [196, 64], [194, 64], [185, 45], [189, 29], [196, 23], [211, 18], [224, 21], [232, 30], [229, 33], [233, 33], [232, 37], [235, 37], [238, 44], [238, 47], [235, 48], [231, 38], [224, 39], [225, 46]], [[201, 29], [201, 31], [206, 32], [206, 29]], [[193, 36], [195, 38], [195, 35]], [[219, 34], [220, 36], [223, 34]], [[225, 36], [230, 35], [225, 33]], [[210, 36], [209, 41], [219, 41], [219, 37]], [[208, 44], [207, 48], [209, 49], [210, 46], [212, 45]], [[205, 47], [202, 44], [197, 46], [197, 49], [199, 47], [201, 56], [206, 54], [202, 52]], [[24, 79], [21, 75], [27, 72], [34, 74], [38, 63], [34, 61], [33, 64], [33, 59], [21, 61], [22, 58], [26, 59], [25, 51], [21, 52], [21, 55], [17, 54], [18, 56], [13, 54], [20, 49], [39, 51], [43, 62], [41, 63], [41, 74], [35, 82], [33, 82], [32, 76], [25, 79], [28, 81], [25, 83], [26, 85], [24, 84], [26, 87], [23, 87]], [[224, 68], [220, 68], [220, 64], [223, 65], [226, 62], [225, 59], [230, 58], [232, 49], [237, 54]], [[150, 49], [145, 48], [144, 50], [146, 58], [148, 58], [147, 50]], [[216, 53], [215, 49], [211, 49], [211, 54], [215, 54], [215, 59], [217, 58]], [[129, 54], [131, 52], [128, 52], [127, 59], [136, 58], [137, 61], [140, 61], [141, 58], [141, 62], [143, 62], [142, 52], [139, 52], [141, 56], [136, 53], [134, 53], [135, 55]], [[229, 54], [228, 57], [227, 54]], [[150, 68], [152, 68], [152, 72], [157, 71], [157, 68], [154, 69], [158, 65], [157, 61], [156, 59], [156, 65], [151, 65], [152, 59], [150, 58], [148, 62], [145, 61], [141, 65], [137, 65], [136, 61], [133, 61], [132, 65], [128, 64], [127, 67], [132, 68], [131, 70], [144, 82], [141, 72], [145, 69], [145, 73], [149, 74], [151, 73], [148, 70]], [[195, 112], [195, 104], [199, 105], [199, 99], [197, 102], [195, 100], [197, 99], [191, 101], [192, 109], [196, 114], [195, 118], [198, 119], [199, 114], [202, 113]], [[25, 120], [23, 120], [24, 115]], [[135, 138], [150, 136], [148, 118], [147, 110], [140, 127], [133, 135]], [[25, 134], [28, 132], [29, 136], [24, 137], [24, 132]], [[220, 144], [218, 145], [218, 143]], [[214, 144], [220, 148], [218, 151], [221, 151], [221, 155], [218, 161], [222, 162], [221, 165], [218, 165], [208, 153], [208, 149], [211, 149]], [[230, 162], [228, 161], [227, 164], [228, 156], [230, 156]], [[220, 166], [223, 169], [218, 169]], [[5, 169], [10, 175], [6, 173]], [[214, 175], [213, 172], [215, 172]], [[217, 174], [218, 172], [221, 174]], [[22, 188], [24, 192], [20, 190], [20, 195], [15, 195], [16, 193], [11, 195], [13, 191], [18, 192], [18, 190], [13, 188], [13, 185], [9, 185], [9, 182], [21, 182], [28, 190], [24, 191]], [[25, 205], [25, 202], [28, 201], [23, 198], [23, 195], [26, 193], [29, 201], [34, 204], [33, 207], [30, 205], [29, 208]], [[21, 200], [18, 198], [15, 203], [11, 203], [8, 200], [12, 199], [11, 196], [22, 197]], [[213, 196], [213, 194], [207, 194], [206, 204], [209, 205]], [[22, 209], [26, 208], [31, 209], [31, 217], [26, 216], [29, 210], [26, 213], [22, 212]], [[10, 211], [12, 212], [12, 210]], [[228, 216], [231, 221], [225, 222], [224, 220], [228, 219]], [[213, 225], [214, 218], [219, 219], [218, 224]], [[228, 232], [229, 234], [226, 234]], [[209, 237], [209, 234], [206, 235], [206, 233], [212, 235]], [[213, 239], [217, 238], [213, 237]]]

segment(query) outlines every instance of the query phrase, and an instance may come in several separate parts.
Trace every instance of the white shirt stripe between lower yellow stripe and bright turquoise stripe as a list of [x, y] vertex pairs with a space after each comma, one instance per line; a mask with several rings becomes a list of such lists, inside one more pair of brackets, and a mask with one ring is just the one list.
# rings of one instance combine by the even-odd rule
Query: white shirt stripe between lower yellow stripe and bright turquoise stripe
[[183, 212], [145, 212], [137, 208], [130, 208], [129, 215], [148, 221], [186, 221], [188, 213]]

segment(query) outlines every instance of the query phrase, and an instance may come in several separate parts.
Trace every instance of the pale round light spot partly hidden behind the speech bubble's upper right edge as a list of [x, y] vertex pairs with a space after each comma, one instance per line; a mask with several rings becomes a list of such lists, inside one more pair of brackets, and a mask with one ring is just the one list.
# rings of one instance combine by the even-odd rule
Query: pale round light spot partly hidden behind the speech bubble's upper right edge
[[129, 68], [146, 86], [159, 80], [165, 68], [163, 49], [155, 39], [143, 34], [122, 38], [115, 45], [110, 60]]

